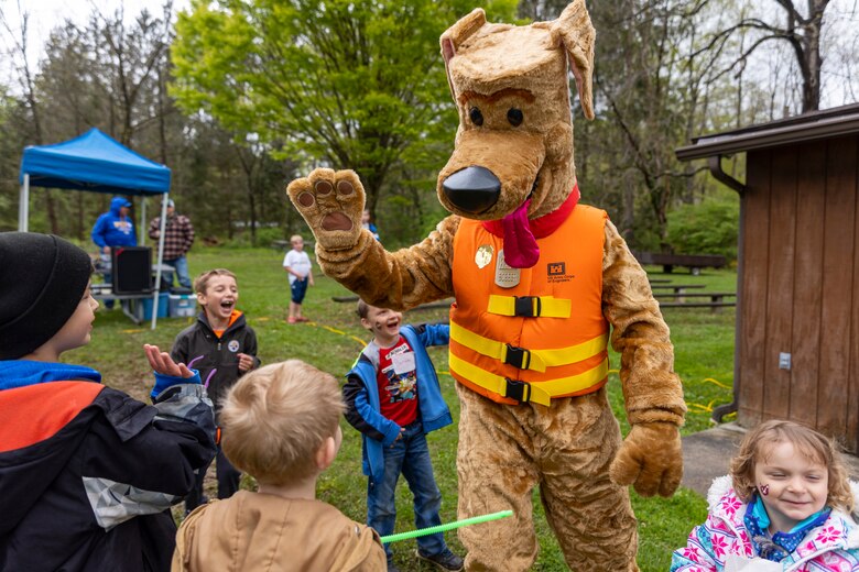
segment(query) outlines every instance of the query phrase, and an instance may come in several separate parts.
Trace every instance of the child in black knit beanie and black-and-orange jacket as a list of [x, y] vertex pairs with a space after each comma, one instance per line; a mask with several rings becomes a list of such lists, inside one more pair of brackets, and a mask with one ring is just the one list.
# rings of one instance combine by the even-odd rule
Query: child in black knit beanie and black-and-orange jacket
[[215, 455], [199, 374], [144, 345], [153, 406], [102, 385], [61, 362], [90, 339], [89, 255], [2, 232], [0, 267], [0, 570], [170, 570], [168, 509]]

